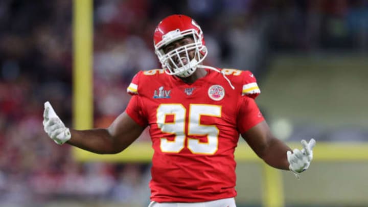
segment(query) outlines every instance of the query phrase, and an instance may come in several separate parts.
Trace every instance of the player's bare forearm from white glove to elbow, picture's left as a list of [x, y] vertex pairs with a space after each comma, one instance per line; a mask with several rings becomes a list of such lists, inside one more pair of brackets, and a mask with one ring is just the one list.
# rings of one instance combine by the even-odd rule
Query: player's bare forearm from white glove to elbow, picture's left
[[75, 147], [98, 154], [113, 154], [121, 151], [107, 129], [72, 129], [71, 134], [72, 137], [67, 143]]

